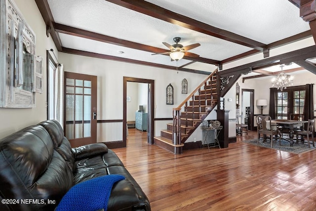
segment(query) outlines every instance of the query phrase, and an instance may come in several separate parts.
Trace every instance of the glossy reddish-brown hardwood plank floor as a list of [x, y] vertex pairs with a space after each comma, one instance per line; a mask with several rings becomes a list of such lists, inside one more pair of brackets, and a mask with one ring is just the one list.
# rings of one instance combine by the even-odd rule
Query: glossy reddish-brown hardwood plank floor
[[173, 155], [129, 129], [127, 147], [114, 151], [152, 211], [315, 211], [316, 150], [297, 155], [241, 142], [254, 137]]

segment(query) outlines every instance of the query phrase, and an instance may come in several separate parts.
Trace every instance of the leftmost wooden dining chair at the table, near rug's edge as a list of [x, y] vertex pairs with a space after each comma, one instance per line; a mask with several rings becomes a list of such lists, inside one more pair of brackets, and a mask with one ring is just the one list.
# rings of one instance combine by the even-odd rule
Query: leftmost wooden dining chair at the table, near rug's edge
[[[258, 123], [260, 121], [260, 119], [261, 119], [261, 122]], [[273, 146], [273, 136], [275, 136], [276, 141], [277, 141], [277, 137], [279, 138], [279, 144], [281, 145], [281, 132], [280, 132], [280, 130], [278, 130], [277, 125], [271, 124], [271, 117], [269, 115], [257, 116], [256, 120], [257, 120], [257, 124], [259, 126], [257, 129], [258, 130], [258, 142], [257, 142], [257, 144], [259, 144], [260, 134], [263, 134], [266, 136], [270, 136], [271, 148]]]

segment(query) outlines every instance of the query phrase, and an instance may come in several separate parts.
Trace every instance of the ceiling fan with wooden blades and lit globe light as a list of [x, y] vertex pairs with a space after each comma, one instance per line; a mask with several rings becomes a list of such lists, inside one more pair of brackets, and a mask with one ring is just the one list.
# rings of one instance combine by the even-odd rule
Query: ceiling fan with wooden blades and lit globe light
[[171, 45], [171, 44], [168, 44], [167, 42], [162, 42], [162, 44], [167, 46], [170, 49], [170, 51], [164, 52], [164, 53], [154, 53], [152, 55], [169, 54], [171, 57], [171, 61], [173, 61], [173, 60], [178, 61], [178, 60], [182, 59], [184, 55], [186, 55], [188, 57], [199, 57], [199, 55], [197, 55], [195, 53], [188, 52], [187, 50], [191, 50], [193, 48], [200, 46], [200, 43], [195, 43], [195, 44], [183, 46], [182, 44], [178, 43], [181, 41], [181, 38], [179, 38], [179, 37], [173, 38], [173, 41], [176, 42], [176, 44]]

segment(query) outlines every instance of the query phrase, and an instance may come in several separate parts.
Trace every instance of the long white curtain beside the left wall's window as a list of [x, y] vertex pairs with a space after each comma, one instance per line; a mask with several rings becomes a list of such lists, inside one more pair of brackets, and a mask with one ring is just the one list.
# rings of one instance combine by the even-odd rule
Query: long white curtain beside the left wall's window
[[57, 64], [54, 80], [54, 119], [64, 127], [64, 65]]

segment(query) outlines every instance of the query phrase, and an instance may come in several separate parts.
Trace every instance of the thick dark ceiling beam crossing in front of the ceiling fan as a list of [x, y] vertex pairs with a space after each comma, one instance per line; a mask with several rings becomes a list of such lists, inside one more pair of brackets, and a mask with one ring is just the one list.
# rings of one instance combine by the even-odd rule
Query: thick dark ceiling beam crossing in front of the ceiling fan
[[253, 49], [263, 51], [267, 49], [266, 44], [245, 38], [243, 36], [237, 35], [235, 33], [219, 29], [214, 26], [202, 23], [195, 19], [189, 18], [187, 16], [175, 13], [173, 11], [167, 10], [163, 7], [157, 6], [156, 4], [147, 2], [145, 0], [107, 0], [109, 2], [115, 3], [119, 6], [132, 9], [134, 11], [158, 18], [160, 20], [176, 24], [203, 34], [207, 34], [219, 39], [223, 39], [230, 42], [235, 42]]

